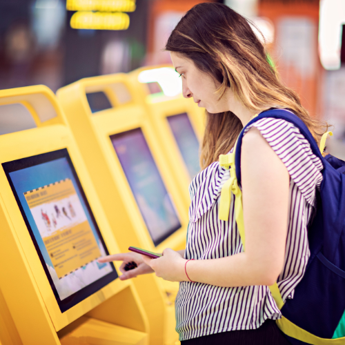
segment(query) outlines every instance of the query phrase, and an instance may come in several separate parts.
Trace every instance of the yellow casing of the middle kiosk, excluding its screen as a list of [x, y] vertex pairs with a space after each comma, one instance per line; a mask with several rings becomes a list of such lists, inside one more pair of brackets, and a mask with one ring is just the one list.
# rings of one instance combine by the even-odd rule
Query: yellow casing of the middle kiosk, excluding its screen
[[[122, 251], [138, 246], [161, 252], [166, 247], [184, 249], [188, 226], [186, 206], [181, 200], [169, 166], [155, 138], [144, 108], [132, 97], [131, 83], [124, 74], [81, 79], [57, 91], [70, 128], [79, 144], [103, 209], [115, 231]], [[92, 114], [86, 94], [104, 92], [112, 108]], [[141, 128], [168, 193], [175, 201], [181, 228], [155, 247], [140, 213], [128, 180], [112, 146], [110, 135]], [[117, 231], [117, 228], [123, 230]], [[126, 229], [126, 230], [124, 230]], [[173, 300], [177, 283], [165, 282], [154, 274], [134, 279], [150, 324], [150, 344], [168, 345], [177, 341]]]

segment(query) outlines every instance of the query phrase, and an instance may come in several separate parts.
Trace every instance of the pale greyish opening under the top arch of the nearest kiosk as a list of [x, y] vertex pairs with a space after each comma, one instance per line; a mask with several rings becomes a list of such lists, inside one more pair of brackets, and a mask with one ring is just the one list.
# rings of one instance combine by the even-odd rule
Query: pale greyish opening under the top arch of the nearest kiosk
[[35, 127], [34, 119], [22, 104], [0, 106], [0, 135]]

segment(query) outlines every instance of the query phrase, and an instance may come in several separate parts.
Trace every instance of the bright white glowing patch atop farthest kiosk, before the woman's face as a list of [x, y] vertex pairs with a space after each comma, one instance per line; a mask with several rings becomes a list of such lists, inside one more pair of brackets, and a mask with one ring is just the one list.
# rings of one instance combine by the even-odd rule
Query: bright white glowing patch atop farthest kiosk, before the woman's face
[[182, 92], [182, 81], [179, 74], [168, 67], [153, 68], [152, 70], [143, 70], [138, 75], [139, 83], [159, 83], [164, 95], [174, 97]]

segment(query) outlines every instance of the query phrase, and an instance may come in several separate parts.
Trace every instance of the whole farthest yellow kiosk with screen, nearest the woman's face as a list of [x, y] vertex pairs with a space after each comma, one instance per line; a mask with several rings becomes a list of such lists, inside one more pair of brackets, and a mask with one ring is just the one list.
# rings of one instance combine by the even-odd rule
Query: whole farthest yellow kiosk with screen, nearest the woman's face
[[132, 92], [144, 104], [170, 169], [186, 203], [188, 186], [200, 171], [199, 144], [205, 127], [205, 109], [181, 94], [181, 79], [171, 66], [143, 67], [130, 72]]

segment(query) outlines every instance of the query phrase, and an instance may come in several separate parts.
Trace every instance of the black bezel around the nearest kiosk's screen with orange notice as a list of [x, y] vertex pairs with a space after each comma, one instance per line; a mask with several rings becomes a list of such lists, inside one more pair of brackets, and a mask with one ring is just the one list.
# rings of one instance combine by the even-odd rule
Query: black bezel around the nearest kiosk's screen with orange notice
[[37, 251], [37, 255], [39, 255], [39, 259], [41, 260], [41, 264], [43, 266], [44, 272], [46, 273], [46, 276], [48, 278], [48, 281], [50, 283], [50, 287], [52, 288], [52, 291], [55, 295], [55, 298], [57, 300], [57, 304], [59, 305], [61, 313], [64, 313], [65, 311], [68, 311], [68, 309], [72, 308], [79, 302], [83, 301], [83, 299], [86, 299], [93, 293], [96, 293], [98, 290], [112, 282], [113, 280], [117, 279], [119, 275], [117, 275], [117, 271], [115, 269], [114, 264], [110, 262], [110, 266], [112, 266], [112, 272], [108, 273], [108, 275], [105, 275], [104, 277], [101, 277], [96, 282], [93, 282], [89, 284], [88, 286], [85, 286], [81, 290], [77, 291], [76, 293], [73, 293], [72, 295], [66, 297], [65, 299], [60, 299], [59, 294], [57, 293], [57, 289], [55, 288], [55, 284], [52, 282], [52, 277], [50, 276], [50, 273], [48, 271], [48, 268], [46, 266], [46, 262], [43, 259], [43, 255], [41, 254], [41, 250], [39, 249], [39, 245], [37, 244], [36, 238], [34, 237], [34, 233], [32, 232], [32, 228], [30, 226], [30, 223], [28, 221], [28, 218], [26, 217], [26, 213], [21, 206], [21, 201], [19, 200], [19, 197], [17, 195], [17, 190], [14, 188], [14, 184], [12, 183], [12, 179], [10, 177], [10, 172], [14, 172], [17, 170], [22, 170], [25, 168], [30, 168], [32, 166], [37, 166], [39, 164], [47, 163], [48, 161], [54, 161], [56, 159], [60, 158], [66, 158], [68, 161], [68, 164], [70, 166], [70, 169], [72, 170], [72, 175], [75, 177], [75, 181], [77, 182], [77, 186], [79, 188], [79, 191], [81, 193], [81, 196], [83, 197], [83, 201], [86, 205], [86, 208], [88, 210], [88, 213], [90, 215], [90, 218], [92, 219], [92, 224], [95, 226], [95, 229], [97, 231], [97, 234], [99, 235], [99, 239], [101, 241], [101, 244], [103, 245], [104, 250], [106, 251], [106, 255], [109, 255], [108, 248], [106, 247], [106, 244], [103, 240], [103, 237], [101, 235], [101, 232], [99, 230], [99, 227], [97, 225], [96, 219], [92, 213], [92, 210], [90, 208], [90, 204], [88, 203], [88, 199], [86, 198], [86, 195], [83, 191], [83, 188], [81, 186], [81, 183], [79, 181], [79, 177], [77, 175], [77, 172], [75, 171], [75, 167], [72, 164], [72, 160], [70, 159], [70, 155], [68, 154], [67, 148], [63, 148], [61, 150], [56, 150], [52, 152], [46, 152], [42, 153], [41, 155], [35, 155], [31, 157], [26, 157], [22, 159], [17, 159], [15, 161], [8, 161], [6, 163], [3, 163], [3, 170], [6, 173], [6, 177], [8, 179], [8, 183], [10, 184], [10, 187], [12, 189], [12, 193], [17, 201], [17, 204], [19, 206], [19, 210], [21, 211], [21, 215], [23, 216], [23, 219], [26, 223], [26, 226], [28, 228], [28, 231], [30, 233], [30, 237], [32, 239], [32, 242], [34, 244], [34, 247]]

